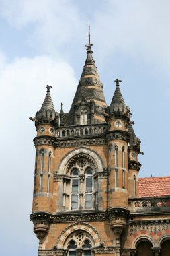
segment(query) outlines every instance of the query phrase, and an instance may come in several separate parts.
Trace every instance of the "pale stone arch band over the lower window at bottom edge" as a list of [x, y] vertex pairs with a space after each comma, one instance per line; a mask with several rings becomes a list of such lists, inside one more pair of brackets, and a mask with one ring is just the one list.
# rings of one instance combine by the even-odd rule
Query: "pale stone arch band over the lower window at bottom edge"
[[95, 247], [98, 247], [99, 245], [101, 245], [102, 243], [101, 237], [99, 236], [99, 233], [97, 232], [97, 230], [93, 228], [93, 226], [85, 222], [76, 222], [76, 224], [73, 223], [70, 226], [67, 226], [67, 228], [65, 228], [60, 233], [60, 235], [58, 236], [58, 240], [56, 241], [56, 244], [55, 244], [56, 248], [57, 249], [63, 248], [65, 241], [67, 240], [67, 237], [70, 236], [71, 233], [77, 230], [87, 232], [87, 234], [92, 236]]

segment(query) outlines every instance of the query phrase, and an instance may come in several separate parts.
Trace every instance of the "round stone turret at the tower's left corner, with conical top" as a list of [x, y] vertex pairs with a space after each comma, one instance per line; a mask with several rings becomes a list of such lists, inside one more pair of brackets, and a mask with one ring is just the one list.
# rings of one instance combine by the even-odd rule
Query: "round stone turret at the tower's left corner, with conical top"
[[[50, 88], [47, 92], [40, 111], [36, 117], [30, 118], [35, 122], [37, 136], [34, 138], [36, 147], [36, 163], [34, 173], [34, 195], [31, 219], [34, 222], [34, 232], [42, 241], [48, 232], [49, 224], [46, 212], [52, 212], [52, 186], [54, 170], [54, 141], [55, 127], [58, 125], [58, 114], [54, 110]], [[41, 212], [34, 219], [34, 214]]]

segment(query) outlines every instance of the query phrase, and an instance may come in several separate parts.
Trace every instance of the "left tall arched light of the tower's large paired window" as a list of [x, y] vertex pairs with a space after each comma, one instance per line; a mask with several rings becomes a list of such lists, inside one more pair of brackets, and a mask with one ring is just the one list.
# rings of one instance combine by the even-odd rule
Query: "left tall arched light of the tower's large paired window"
[[71, 210], [79, 209], [79, 172], [74, 169], [71, 174]]

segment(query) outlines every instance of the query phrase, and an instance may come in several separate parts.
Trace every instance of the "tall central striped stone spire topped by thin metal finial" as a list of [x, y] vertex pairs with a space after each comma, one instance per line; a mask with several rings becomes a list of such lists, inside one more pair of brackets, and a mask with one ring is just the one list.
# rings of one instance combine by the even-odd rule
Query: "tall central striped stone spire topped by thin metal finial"
[[[91, 44], [90, 24], [88, 38], [89, 42], [87, 45], [85, 45], [87, 48], [87, 58], [85, 60], [83, 72], [81, 74], [79, 85], [75, 93], [75, 98], [73, 99], [73, 103], [71, 105], [71, 110], [67, 116], [67, 124], [69, 125], [79, 123], [79, 121], [74, 120], [79, 119], [80, 105], [85, 106], [85, 104], [85, 109], [94, 112], [93, 121], [89, 121], [89, 123], [105, 123], [105, 117], [103, 113], [105, 112], [106, 102], [103, 94], [103, 85], [100, 82], [97, 68], [95, 66], [95, 61], [92, 56], [93, 51], [91, 51], [91, 46], [93, 46], [93, 44]], [[82, 100], [82, 95], [85, 97], [86, 103], [84, 100]], [[93, 102], [91, 102], [91, 100], [93, 100]], [[93, 110], [90, 110], [92, 108]], [[89, 115], [92, 115], [92, 113], [89, 113]]]

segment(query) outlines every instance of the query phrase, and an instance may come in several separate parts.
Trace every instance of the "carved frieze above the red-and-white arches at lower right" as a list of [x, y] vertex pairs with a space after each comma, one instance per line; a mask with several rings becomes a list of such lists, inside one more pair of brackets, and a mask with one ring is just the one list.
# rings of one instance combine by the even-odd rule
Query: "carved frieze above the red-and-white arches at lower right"
[[170, 229], [170, 220], [143, 220], [130, 221], [130, 235], [137, 231], [149, 231], [157, 234], [162, 230]]

